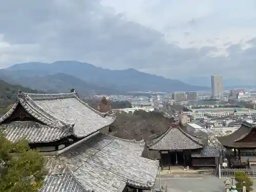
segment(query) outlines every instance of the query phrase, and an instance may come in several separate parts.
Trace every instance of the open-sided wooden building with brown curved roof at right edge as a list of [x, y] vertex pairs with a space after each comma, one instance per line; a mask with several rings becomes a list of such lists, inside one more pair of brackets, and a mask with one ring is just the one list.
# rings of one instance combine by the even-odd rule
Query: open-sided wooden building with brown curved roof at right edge
[[256, 164], [256, 125], [243, 121], [241, 127], [230, 135], [218, 137], [226, 148], [225, 157], [232, 167]]

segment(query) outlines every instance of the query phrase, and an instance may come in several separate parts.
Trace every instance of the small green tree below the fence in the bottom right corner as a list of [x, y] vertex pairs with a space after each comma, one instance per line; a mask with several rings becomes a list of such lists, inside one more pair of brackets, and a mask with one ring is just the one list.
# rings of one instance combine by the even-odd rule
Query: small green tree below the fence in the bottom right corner
[[237, 190], [242, 190], [243, 186], [246, 187], [246, 191], [252, 191], [252, 185], [253, 185], [253, 181], [250, 180], [250, 178], [246, 175], [245, 172], [236, 172], [236, 174], [234, 175], [234, 179], [236, 179], [237, 183]]

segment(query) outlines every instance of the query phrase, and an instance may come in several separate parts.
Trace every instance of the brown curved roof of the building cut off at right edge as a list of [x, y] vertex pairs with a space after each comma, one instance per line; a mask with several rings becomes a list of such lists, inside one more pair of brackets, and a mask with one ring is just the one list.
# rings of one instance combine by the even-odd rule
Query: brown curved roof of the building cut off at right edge
[[[241, 127], [233, 133], [218, 137], [220, 143], [230, 148], [256, 148], [256, 126], [246, 121], [242, 122]], [[252, 135], [254, 134], [254, 135]], [[252, 135], [254, 138], [248, 138]]]

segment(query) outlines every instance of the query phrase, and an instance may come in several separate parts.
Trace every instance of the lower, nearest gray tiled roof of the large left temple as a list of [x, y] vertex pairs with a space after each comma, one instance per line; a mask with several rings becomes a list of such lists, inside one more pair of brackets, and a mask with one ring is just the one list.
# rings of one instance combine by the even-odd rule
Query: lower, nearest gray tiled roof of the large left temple
[[49, 175], [40, 192], [119, 192], [126, 185], [151, 189], [159, 162], [141, 157], [143, 150], [143, 141], [98, 134], [58, 157], [48, 157]]

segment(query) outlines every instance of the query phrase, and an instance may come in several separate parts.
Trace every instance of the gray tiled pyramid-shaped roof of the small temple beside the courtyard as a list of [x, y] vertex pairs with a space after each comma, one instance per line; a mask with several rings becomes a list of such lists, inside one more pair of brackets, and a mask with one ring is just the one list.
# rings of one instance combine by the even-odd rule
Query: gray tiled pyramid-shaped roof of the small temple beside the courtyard
[[151, 150], [189, 150], [202, 148], [203, 146], [200, 138], [189, 135], [180, 127], [170, 127], [149, 145]]

